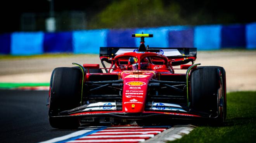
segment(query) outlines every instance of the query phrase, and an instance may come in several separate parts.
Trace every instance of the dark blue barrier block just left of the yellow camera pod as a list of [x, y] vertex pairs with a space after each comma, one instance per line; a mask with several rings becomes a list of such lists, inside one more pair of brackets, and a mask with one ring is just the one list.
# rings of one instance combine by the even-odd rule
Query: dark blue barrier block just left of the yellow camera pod
[[135, 47], [135, 39], [131, 34], [135, 29], [116, 29], [109, 30], [107, 33], [107, 47]]

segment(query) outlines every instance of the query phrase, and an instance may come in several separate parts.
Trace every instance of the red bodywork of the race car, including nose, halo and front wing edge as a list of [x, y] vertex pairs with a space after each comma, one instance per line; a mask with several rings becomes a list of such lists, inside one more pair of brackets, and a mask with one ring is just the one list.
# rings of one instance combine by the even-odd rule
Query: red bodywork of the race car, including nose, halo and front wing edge
[[[137, 69], [129, 69], [128, 65], [129, 57], [135, 57], [138, 59]], [[106, 58], [111, 61], [110, 68], [108, 69], [110, 73], [87, 73], [86, 81], [90, 82], [90, 76], [109, 76], [116, 75], [119, 80], [122, 80], [122, 110], [121, 111], [82, 111], [80, 113], [73, 113], [70, 116], [87, 115], [87, 114], [104, 114], [104, 113], [159, 113], [159, 114], [170, 114], [170, 115], [180, 115], [180, 116], [193, 116], [200, 117], [195, 114], [172, 112], [172, 111], [145, 111], [148, 84], [150, 80], [160, 80], [161, 75], [171, 75], [171, 76], [185, 76], [185, 74], [174, 74], [171, 62], [182, 59], [168, 59], [168, 57], [157, 54], [154, 52], [127, 52], [123, 54], [118, 54], [114, 58], [100, 57], [101, 59]], [[142, 59], [150, 59], [147, 67], [142, 69], [142, 64], [144, 62]], [[195, 57], [190, 57], [194, 58]], [[185, 60], [185, 59], [184, 59]], [[160, 63], [160, 64], [154, 64]], [[181, 69], [188, 69], [191, 65], [181, 65]], [[84, 64], [83, 67], [88, 69], [97, 69], [99, 64]], [[114, 67], [114, 68], [112, 68]], [[85, 82], [86, 82], [85, 81]]]

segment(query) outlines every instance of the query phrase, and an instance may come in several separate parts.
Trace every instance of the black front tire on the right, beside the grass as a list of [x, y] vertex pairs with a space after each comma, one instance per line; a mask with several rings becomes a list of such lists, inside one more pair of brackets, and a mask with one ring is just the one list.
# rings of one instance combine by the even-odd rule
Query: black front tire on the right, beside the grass
[[198, 67], [193, 70], [190, 78], [191, 108], [209, 113], [218, 123], [223, 123], [226, 106], [223, 85], [219, 68]]

